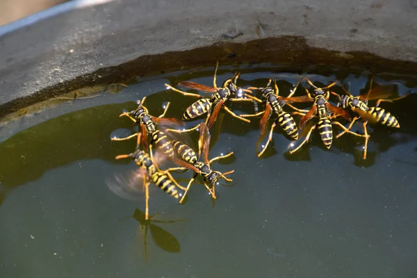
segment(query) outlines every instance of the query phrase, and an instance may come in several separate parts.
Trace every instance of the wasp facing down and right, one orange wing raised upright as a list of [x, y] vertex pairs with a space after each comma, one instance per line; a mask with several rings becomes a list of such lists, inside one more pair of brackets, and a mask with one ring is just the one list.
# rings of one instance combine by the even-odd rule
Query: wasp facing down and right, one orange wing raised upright
[[[188, 145], [184, 144], [183, 142], [172, 141], [172, 145], [174, 146], [175, 152], [177, 152], [178, 156], [181, 157], [183, 160], [178, 159], [178, 158], [170, 158], [170, 159], [174, 161], [174, 163], [177, 163], [178, 165], [181, 165], [183, 167], [170, 168], [170, 169], [167, 169], [167, 171], [191, 169], [195, 172], [194, 177], [190, 179], [190, 182], [188, 183], [188, 186], [181, 200], [179, 201], [180, 203], [182, 203], [183, 199], [186, 197], [186, 194], [188, 190], [190, 189], [191, 184], [197, 177], [197, 174], [200, 174], [202, 175], [202, 177], [204, 177], [204, 186], [206, 186], [206, 189], [211, 194], [211, 197], [213, 199], [215, 199], [215, 183], [216, 181], [218, 181], [218, 179], [222, 178], [228, 182], [232, 181], [231, 179], [228, 179], [225, 176], [233, 173], [234, 170], [226, 172], [226, 173], [213, 171], [211, 169], [211, 163], [213, 163], [214, 161], [218, 161], [219, 159], [222, 159], [222, 158], [227, 158], [231, 156], [233, 152], [229, 152], [229, 154], [217, 156], [215, 158], [212, 158], [211, 160], [208, 160], [208, 148], [210, 146], [211, 136], [208, 131], [208, 126], [206, 126], [204, 122], [199, 124], [199, 126], [200, 126], [200, 135], [199, 135], [199, 141], [198, 141], [198, 145], [199, 145], [198, 157], [197, 157], [197, 154], [193, 151], [193, 149], [188, 147]], [[199, 161], [201, 150], [203, 151], [204, 162]], [[206, 184], [206, 181], [208, 181], [208, 183], [211, 183], [211, 188], [208, 187], [208, 185]]]

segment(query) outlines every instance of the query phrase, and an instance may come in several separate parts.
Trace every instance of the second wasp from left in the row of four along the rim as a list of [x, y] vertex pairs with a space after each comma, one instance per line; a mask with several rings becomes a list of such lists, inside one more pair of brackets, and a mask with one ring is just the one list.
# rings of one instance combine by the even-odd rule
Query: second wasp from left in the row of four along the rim
[[[275, 86], [274, 88], [272, 88], [270, 87], [271, 81], [272, 81], [271, 79], [268, 81], [268, 84], [266, 85], [265, 88], [254, 88], [254, 87], [248, 88], [248, 89], [261, 90], [262, 97], [265, 99], [265, 102], [266, 102], [265, 110], [256, 114], [252, 114], [252, 115], [240, 115], [241, 117], [256, 117], [256, 116], [262, 115], [261, 122], [259, 123], [261, 136], [259, 137], [259, 140], [256, 144], [256, 149], [258, 148], [257, 146], [259, 145], [259, 142], [261, 142], [263, 136], [265, 135], [266, 122], [268, 122], [268, 119], [270, 118], [272, 112], [274, 112], [275, 115], [277, 115], [277, 120], [275, 120], [275, 122], [272, 124], [270, 128], [268, 141], [263, 146], [261, 152], [258, 154], [258, 157], [260, 157], [263, 154], [263, 152], [265, 152], [266, 148], [268, 147], [269, 142], [272, 140], [272, 131], [274, 130], [277, 122], [281, 126], [281, 128], [284, 130], [284, 132], [287, 134], [288, 137], [290, 137], [293, 140], [297, 140], [298, 138], [297, 125], [295, 124], [293, 117], [289, 113], [286, 113], [282, 108], [284, 105], [286, 105], [286, 102], [284, 101], [284, 97], [279, 97], [278, 95], [279, 90], [278, 90], [277, 82], [275, 81]], [[297, 85], [295, 85], [293, 92], [291, 92], [291, 94], [288, 95], [288, 97], [291, 97], [294, 94], [295, 90], [297, 90], [297, 87], [300, 81], [301, 79], [298, 81]], [[263, 102], [260, 99], [256, 99], [256, 101]], [[291, 106], [291, 104], [288, 104], [288, 106]]]

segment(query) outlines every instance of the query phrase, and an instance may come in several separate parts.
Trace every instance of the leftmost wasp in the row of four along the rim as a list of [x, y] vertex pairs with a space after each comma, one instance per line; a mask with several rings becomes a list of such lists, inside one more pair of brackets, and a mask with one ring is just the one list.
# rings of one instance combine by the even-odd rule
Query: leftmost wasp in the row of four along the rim
[[[224, 81], [222, 87], [218, 88], [218, 86], [216, 85], [216, 74], [218, 70], [218, 65], [219, 63], [217, 62], [215, 65], [215, 71], [214, 71], [213, 87], [209, 87], [209, 86], [195, 83], [192, 81], [183, 81], [183, 82], [178, 83], [178, 85], [182, 87], [200, 90], [202, 92], [208, 92], [211, 94], [210, 98], [202, 97], [201, 95], [198, 95], [198, 94], [183, 92], [181, 90], [173, 88], [172, 86], [168, 84], [165, 84], [168, 90], [179, 92], [180, 94], [186, 97], [198, 97], [199, 98], [197, 101], [195, 101], [195, 103], [191, 104], [183, 113], [183, 120], [193, 120], [196, 117], [199, 117], [207, 113], [205, 123], [208, 126], [208, 129], [210, 129], [211, 126], [214, 124], [216, 118], [218, 117], [218, 113], [220, 112], [220, 109], [224, 108], [224, 110], [227, 113], [229, 113], [232, 117], [242, 120], [243, 122], [250, 122], [250, 120], [247, 120], [243, 117], [236, 115], [233, 111], [231, 111], [229, 108], [227, 108], [227, 106], [224, 105], [224, 103], [228, 100], [229, 101], [252, 101], [253, 97], [245, 93], [245, 92], [250, 92], [250, 90], [238, 88], [236, 86], [236, 79], [238, 79], [239, 74], [235, 74], [231, 79], [227, 79], [226, 81]], [[245, 92], [242, 92], [243, 90]], [[231, 97], [232, 93], [237, 94], [236, 95], [237, 98], [232, 98]], [[243, 98], [243, 97], [246, 97], [246, 98]], [[214, 105], [214, 108], [212, 112], [211, 108], [213, 105]], [[182, 131], [170, 129], [170, 131], [174, 131], [177, 133], [188, 132], [188, 131], [193, 131], [195, 129], [198, 129], [198, 127], [199, 125], [193, 127], [192, 129], [186, 129]]]

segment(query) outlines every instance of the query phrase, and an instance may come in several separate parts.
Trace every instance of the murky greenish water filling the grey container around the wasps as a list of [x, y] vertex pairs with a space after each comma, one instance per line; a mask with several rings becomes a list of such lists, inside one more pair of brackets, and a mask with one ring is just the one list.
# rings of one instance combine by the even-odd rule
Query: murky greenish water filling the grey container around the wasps
[[[277, 78], [284, 96], [299, 76], [295, 68], [242, 65], [220, 67], [218, 82], [238, 70], [238, 85], [263, 86]], [[401, 129], [370, 129], [366, 161], [362, 140], [343, 136], [327, 151], [316, 132], [302, 151], [288, 155], [289, 141], [279, 127], [259, 159], [259, 120], [245, 124], [224, 115], [210, 156], [234, 151], [234, 160], [214, 166], [236, 170], [234, 186], [216, 189], [214, 207], [201, 185], [193, 186], [184, 205], [152, 186], [150, 213], [160, 213], [154, 219], [178, 222], [152, 222], [145, 262], [145, 229], [138, 222], [144, 223], [144, 202], [117, 197], [104, 183], [114, 172], [136, 167], [114, 160], [135, 145], [111, 142], [114, 134], [135, 131], [118, 115], [153, 93], [145, 103], [150, 113], [161, 114], [162, 104], [171, 101], [167, 117], [181, 117], [195, 99], [168, 92], [163, 84], [211, 85], [212, 74], [209, 68], [139, 79], [118, 94], [67, 101], [3, 126], [1, 277], [416, 277], [414, 95], [382, 105]], [[357, 69], [321, 67], [308, 74], [322, 83], [351, 83], [354, 92], [369, 77]], [[380, 74], [375, 82], [396, 83], [399, 95], [417, 88], [414, 76]], [[234, 110], [250, 113], [253, 105]]]

